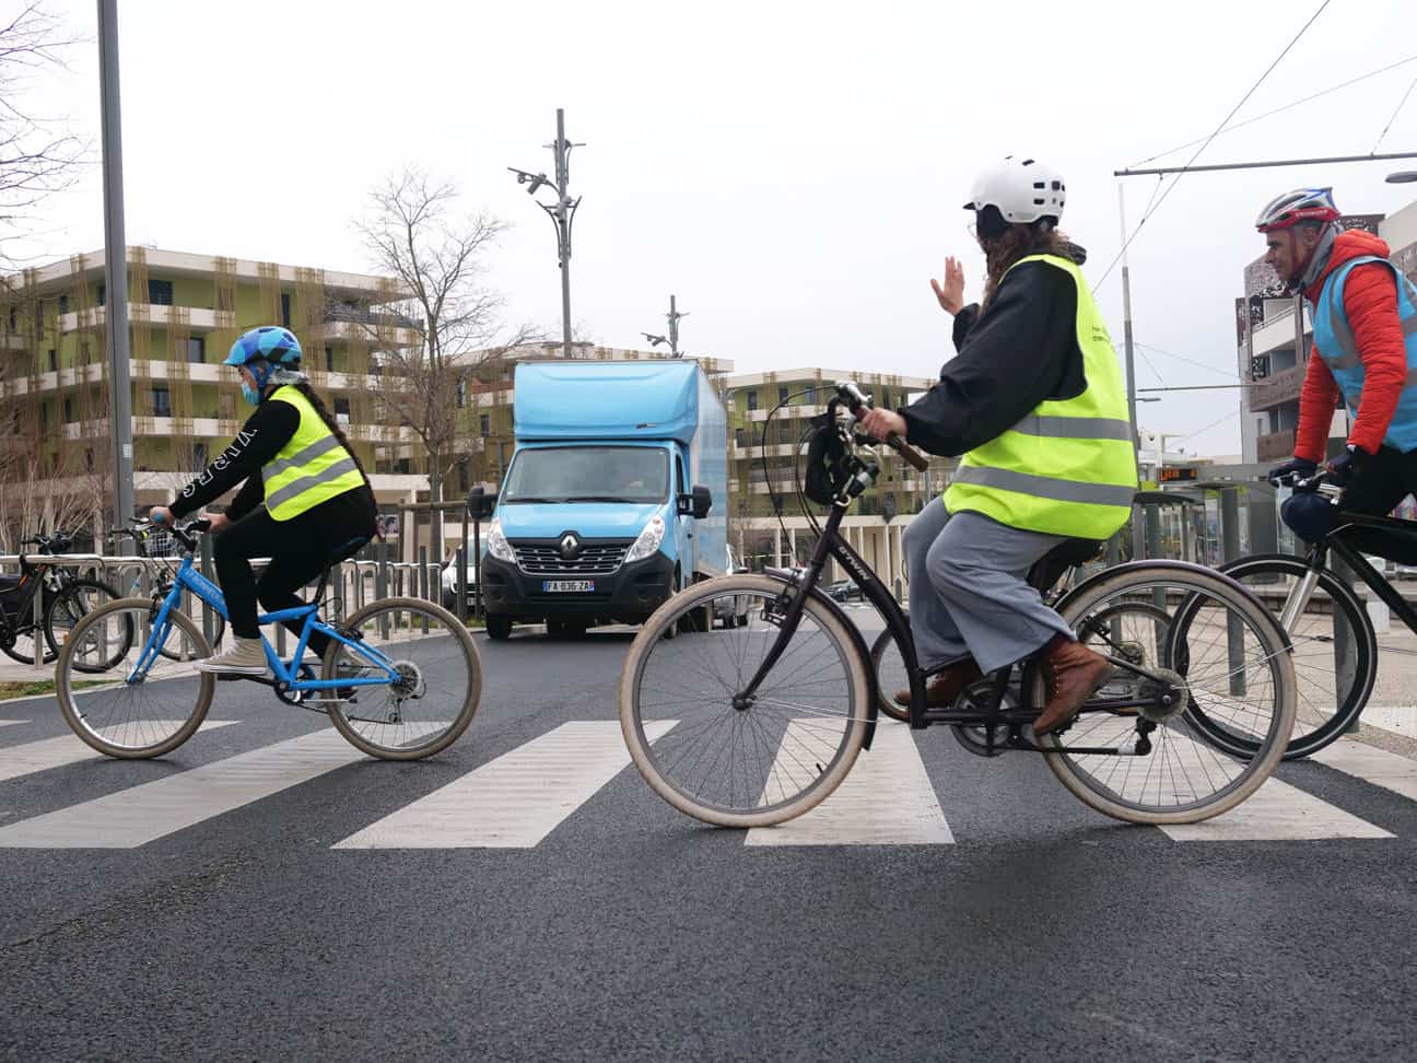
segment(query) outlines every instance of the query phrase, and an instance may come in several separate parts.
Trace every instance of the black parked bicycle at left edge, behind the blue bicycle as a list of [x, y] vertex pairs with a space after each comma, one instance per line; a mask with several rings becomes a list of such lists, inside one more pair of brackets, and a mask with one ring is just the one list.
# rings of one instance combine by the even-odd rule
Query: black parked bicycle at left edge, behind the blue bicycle
[[[20, 541], [34, 546], [38, 558], [20, 554], [20, 574], [0, 575], [0, 652], [23, 665], [34, 663], [35, 641], [43, 635], [41, 662], [48, 665], [64, 646], [74, 625], [118, 591], [101, 580], [81, 577], [72, 566], [45, 560], [74, 549], [74, 536], [55, 532]], [[34, 601], [40, 595], [40, 634], [34, 626]], [[103, 670], [96, 665], [81, 670]]]

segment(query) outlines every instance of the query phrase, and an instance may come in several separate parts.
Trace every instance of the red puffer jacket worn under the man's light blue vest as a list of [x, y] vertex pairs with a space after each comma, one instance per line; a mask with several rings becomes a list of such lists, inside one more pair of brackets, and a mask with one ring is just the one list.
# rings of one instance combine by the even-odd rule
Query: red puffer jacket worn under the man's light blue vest
[[[1304, 292], [1309, 305], [1318, 302], [1329, 274], [1362, 255], [1387, 258], [1389, 247], [1363, 230], [1340, 232], [1333, 241], [1328, 268]], [[1353, 343], [1363, 359], [1363, 395], [1348, 441], [1367, 454], [1377, 454], [1407, 386], [1407, 347], [1403, 342], [1403, 325], [1397, 316], [1397, 282], [1393, 279], [1393, 272], [1377, 262], [1355, 266], [1348, 275], [1348, 283], [1343, 285], [1343, 310], [1353, 330]], [[1295, 458], [1323, 461], [1329, 424], [1338, 403], [1338, 381], [1333, 380], [1315, 346], [1304, 374], [1304, 391], [1299, 394]]]

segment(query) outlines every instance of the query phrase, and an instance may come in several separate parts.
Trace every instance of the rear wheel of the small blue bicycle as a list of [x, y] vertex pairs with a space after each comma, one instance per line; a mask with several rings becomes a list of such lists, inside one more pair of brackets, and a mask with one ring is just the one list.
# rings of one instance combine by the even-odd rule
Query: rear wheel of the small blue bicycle
[[322, 679], [376, 679], [312, 696], [354, 748], [380, 760], [421, 760], [468, 730], [482, 697], [482, 662], [456, 617], [422, 598], [370, 602], [339, 628]]

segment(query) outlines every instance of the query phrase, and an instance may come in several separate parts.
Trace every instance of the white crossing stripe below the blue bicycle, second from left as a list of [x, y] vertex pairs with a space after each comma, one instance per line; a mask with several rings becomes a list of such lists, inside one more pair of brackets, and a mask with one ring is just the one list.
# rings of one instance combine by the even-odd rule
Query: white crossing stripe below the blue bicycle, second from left
[[339, 731], [315, 731], [21, 819], [0, 828], [0, 848], [135, 849], [363, 758]]

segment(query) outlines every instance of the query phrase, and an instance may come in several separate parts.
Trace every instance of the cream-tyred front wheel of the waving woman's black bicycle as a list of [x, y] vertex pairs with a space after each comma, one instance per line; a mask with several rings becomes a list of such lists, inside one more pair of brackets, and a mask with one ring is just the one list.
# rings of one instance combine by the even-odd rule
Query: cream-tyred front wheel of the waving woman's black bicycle
[[[769, 826], [823, 801], [856, 763], [870, 707], [869, 662], [815, 598], [752, 694], [792, 588], [767, 575], [706, 580], [640, 628], [621, 670], [625, 744], [645, 781], [680, 812], [717, 826]], [[684, 617], [748, 600], [747, 626], [666, 641]]]

